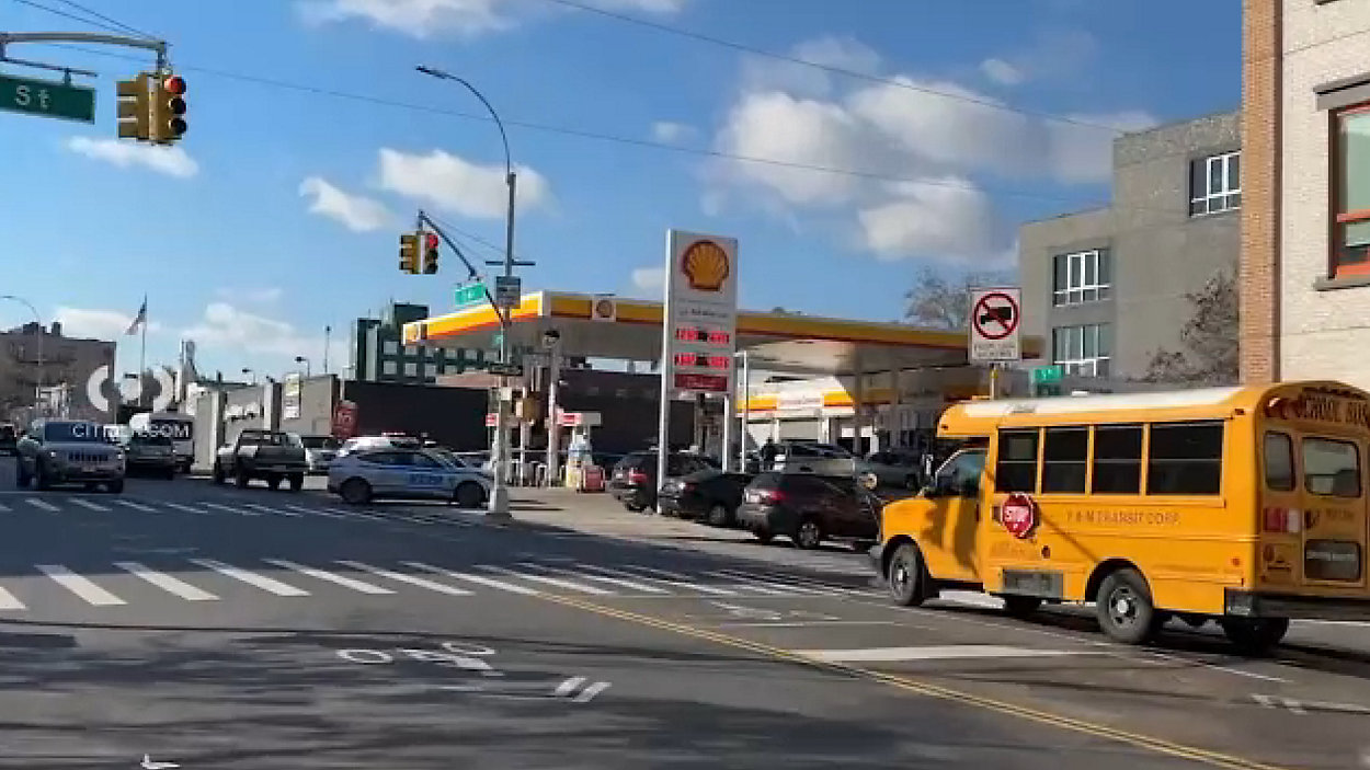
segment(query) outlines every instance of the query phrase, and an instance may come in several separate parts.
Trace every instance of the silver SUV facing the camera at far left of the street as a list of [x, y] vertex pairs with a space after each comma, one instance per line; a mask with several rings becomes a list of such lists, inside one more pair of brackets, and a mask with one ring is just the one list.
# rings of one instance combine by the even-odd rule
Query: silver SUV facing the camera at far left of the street
[[15, 485], [36, 484], [49, 489], [58, 484], [104, 485], [123, 492], [125, 456], [111, 444], [104, 426], [95, 422], [38, 419], [15, 444]]

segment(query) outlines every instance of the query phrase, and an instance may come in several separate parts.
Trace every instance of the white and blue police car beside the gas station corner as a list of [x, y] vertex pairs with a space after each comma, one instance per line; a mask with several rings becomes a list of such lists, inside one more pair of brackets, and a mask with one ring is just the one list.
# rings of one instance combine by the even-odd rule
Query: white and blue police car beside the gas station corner
[[329, 466], [329, 492], [353, 506], [389, 497], [448, 500], [477, 508], [489, 499], [492, 482], [480, 469], [452, 464], [423, 449], [356, 449]]

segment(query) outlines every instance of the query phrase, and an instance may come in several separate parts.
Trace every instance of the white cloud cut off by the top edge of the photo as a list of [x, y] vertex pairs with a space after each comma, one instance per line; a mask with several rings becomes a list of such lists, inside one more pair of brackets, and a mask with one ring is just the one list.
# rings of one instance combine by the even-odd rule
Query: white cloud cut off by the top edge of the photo
[[[686, 0], [588, 0], [607, 11], [674, 14]], [[545, 8], [527, 0], [301, 0], [296, 4], [310, 23], [360, 19], [375, 27], [418, 38], [456, 34], [475, 37], [511, 29]]]

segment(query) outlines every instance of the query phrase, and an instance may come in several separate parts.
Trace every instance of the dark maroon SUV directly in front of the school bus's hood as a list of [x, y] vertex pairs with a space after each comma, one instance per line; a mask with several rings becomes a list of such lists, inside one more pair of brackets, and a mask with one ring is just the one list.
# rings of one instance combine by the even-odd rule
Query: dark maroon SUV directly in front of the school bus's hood
[[784, 534], [806, 549], [847, 540], [866, 551], [880, 540], [880, 500], [851, 475], [769, 471], [747, 485], [737, 521], [762, 543]]

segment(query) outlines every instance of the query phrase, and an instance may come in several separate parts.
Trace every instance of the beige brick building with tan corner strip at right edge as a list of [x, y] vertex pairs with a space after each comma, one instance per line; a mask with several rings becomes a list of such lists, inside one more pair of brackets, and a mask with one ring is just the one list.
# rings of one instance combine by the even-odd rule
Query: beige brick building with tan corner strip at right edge
[[1370, 389], [1370, 0], [1243, 0], [1241, 374]]

